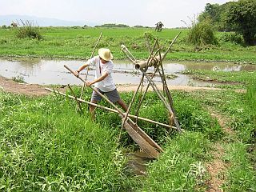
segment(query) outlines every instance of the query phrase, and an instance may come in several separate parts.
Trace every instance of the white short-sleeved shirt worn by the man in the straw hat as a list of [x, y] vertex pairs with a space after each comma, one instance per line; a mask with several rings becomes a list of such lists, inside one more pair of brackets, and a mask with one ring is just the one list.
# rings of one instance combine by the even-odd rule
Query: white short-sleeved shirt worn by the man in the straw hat
[[89, 66], [95, 66], [95, 79], [101, 77], [105, 72], [108, 74], [101, 82], [96, 82], [94, 84], [95, 87], [103, 92], [109, 92], [116, 88], [111, 76], [114, 68], [114, 63], [111, 60], [109, 62], [102, 63], [99, 56], [95, 56], [94, 58], [90, 58], [86, 64]]

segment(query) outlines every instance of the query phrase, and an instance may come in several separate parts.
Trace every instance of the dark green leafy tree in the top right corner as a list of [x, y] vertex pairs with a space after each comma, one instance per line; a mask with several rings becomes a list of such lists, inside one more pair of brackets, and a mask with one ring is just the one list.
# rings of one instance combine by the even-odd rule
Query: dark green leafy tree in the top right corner
[[256, 45], [256, 1], [232, 2], [226, 15], [226, 24], [242, 34], [246, 44]]

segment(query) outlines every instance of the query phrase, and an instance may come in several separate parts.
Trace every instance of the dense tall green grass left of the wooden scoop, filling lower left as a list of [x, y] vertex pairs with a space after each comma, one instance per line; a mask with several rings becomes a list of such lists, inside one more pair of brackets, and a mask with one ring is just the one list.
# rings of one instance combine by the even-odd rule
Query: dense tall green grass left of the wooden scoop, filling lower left
[[126, 189], [115, 132], [58, 98], [0, 93], [0, 103], [2, 190]]

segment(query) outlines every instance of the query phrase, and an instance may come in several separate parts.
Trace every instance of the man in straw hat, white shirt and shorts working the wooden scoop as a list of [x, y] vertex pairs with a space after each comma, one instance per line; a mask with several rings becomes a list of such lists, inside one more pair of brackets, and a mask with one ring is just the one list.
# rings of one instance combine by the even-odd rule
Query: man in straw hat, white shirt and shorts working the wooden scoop
[[[127, 110], [126, 104], [120, 98], [118, 91], [114, 85], [113, 78], [111, 76], [114, 63], [111, 61], [113, 55], [109, 49], [101, 48], [98, 50], [98, 56], [90, 58], [86, 64], [80, 66], [78, 70], [75, 71], [78, 75], [82, 70], [87, 66], [95, 66], [95, 78], [92, 82], [86, 82], [86, 86], [94, 85], [95, 88], [101, 93], [106, 94], [107, 98], [110, 99], [110, 102], [118, 102], [123, 110]], [[93, 91], [90, 102], [97, 103], [101, 101], [102, 97]], [[95, 106], [90, 105], [90, 113], [94, 118]]]

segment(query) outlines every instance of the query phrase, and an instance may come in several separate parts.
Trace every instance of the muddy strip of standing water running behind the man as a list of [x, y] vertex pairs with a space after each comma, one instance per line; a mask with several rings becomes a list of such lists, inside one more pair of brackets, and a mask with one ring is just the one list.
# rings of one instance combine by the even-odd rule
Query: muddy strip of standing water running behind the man
[[[82, 85], [82, 82], [74, 78], [64, 65], [76, 70], [84, 61], [79, 60], [46, 60], [38, 58], [29, 58], [25, 61], [10, 61], [0, 59], [0, 75], [6, 78], [22, 77], [27, 83], [35, 83], [39, 85]], [[194, 80], [184, 74], [179, 74], [183, 70], [223, 70], [223, 71], [239, 71], [239, 70], [256, 70], [254, 65], [235, 65], [229, 62], [180, 62], [163, 64], [166, 74], [175, 74], [177, 78], [167, 79], [167, 83], [174, 86], [214, 86], [210, 82], [200, 82]], [[149, 69], [152, 72], [154, 69]], [[86, 70], [83, 71], [84, 75]], [[128, 61], [114, 61], [114, 82], [116, 84], [138, 84], [141, 74], [134, 69], [133, 64]], [[94, 78], [94, 69], [89, 71], [88, 80]], [[160, 78], [154, 78], [156, 83], [161, 83]]]

